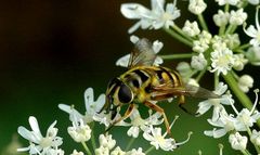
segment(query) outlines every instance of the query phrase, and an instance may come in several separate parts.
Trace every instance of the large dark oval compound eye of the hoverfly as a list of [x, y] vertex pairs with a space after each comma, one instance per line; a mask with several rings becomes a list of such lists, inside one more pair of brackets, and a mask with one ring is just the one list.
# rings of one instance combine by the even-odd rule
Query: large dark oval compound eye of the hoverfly
[[118, 99], [121, 103], [130, 103], [133, 99], [132, 91], [126, 85], [121, 85], [118, 91]]

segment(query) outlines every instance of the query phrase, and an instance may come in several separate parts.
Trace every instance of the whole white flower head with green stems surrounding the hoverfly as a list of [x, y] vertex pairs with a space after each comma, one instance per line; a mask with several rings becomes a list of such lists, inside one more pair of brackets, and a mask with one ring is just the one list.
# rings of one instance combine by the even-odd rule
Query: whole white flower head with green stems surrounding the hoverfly
[[[229, 134], [229, 142], [232, 148], [240, 151], [243, 154], [250, 154], [247, 150], [248, 140], [250, 140], [256, 152], [260, 154], [260, 131], [259, 129], [253, 129], [255, 126], [260, 127], [258, 122], [260, 113], [257, 109], [259, 102], [258, 90], [256, 91], [256, 100], [251, 103], [246, 93], [253, 87], [253, 78], [248, 74], [238, 74], [238, 72], [245, 69], [247, 64], [260, 66], [260, 5], [256, 7], [260, 1], [214, 0], [214, 4], [218, 9], [212, 15], [212, 24], [218, 27], [219, 31], [217, 33], [211, 33], [211, 27], [208, 27], [204, 18], [204, 13], [207, 11], [209, 3], [208, 1], [188, 0], [187, 11], [196, 15], [197, 21], [186, 20], [182, 28], [176, 23], [176, 20], [181, 16], [181, 12], [177, 8], [177, 0], [169, 3], [166, 3], [165, 0], [151, 0], [151, 9], [139, 3], [121, 4], [120, 11], [125, 17], [138, 20], [128, 33], [132, 34], [139, 28], [164, 29], [174, 39], [188, 46], [191, 48], [190, 53], [173, 53], [171, 55], [156, 56], [154, 66], [161, 65], [164, 59], [174, 60], [174, 62], [177, 59], [190, 59], [190, 63], [180, 62], [177, 66], [177, 70], [180, 73], [185, 85], [183, 85], [180, 90], [177, 89], [176, 91], [177, 96], [191, 92], [188, 95], [209, 98], [208, 100], [199, 102], [197, 109], [197, 114], [200, 116], [211, 107], [213, 108], [212, 117], [207, 119], [208, 122], [213, 126], [213, 129], [206, 130], [204, 133], [216, 139]], [[246, 8], [249, 7], [256, 8], [253, 25], [247, 24], [248, 13], [246, 11], [248, 9]], [[207, 22], [210, 22], [210, 20], [207, 20]], [[239, 28], [242, 30], [237, 30]], [[245, 36], [250, 38], [249, 41], [245, 41]], [[131, 36], [130, 40], [132, 43], [136, 43], [139, 38], [136, 36]], [[151, 48], [157, 54], [162, 47], [164, 43], [156, 40], [152, 43]], [[129, 67], [129, 61], [130, 54], [127, 54], [120, 57], [116, 62], [116, 65]], [[211, 93], [212, 95], [205, 96], [206, 94], [199, 94], [199, 91], [194, 93], [194, 90], [188, 90], [186, 86], [191, 85], [197, 88], [196, 90], [200, 90], [198, 82], [207, 72], [213, 74], [214, 91]], [[225, 82], [220, 82], [220, 79], [223, 79], [226, 85]], [[165, 83], [161, 86], [164, 85]], [[176, 87], [177, 86], [172, 88]], [[231, 91], [229, 91], [227, 88]], [[183, 91], [183, 89], [185, 91]], [[162, 92], [162, 94], [166, 93], [166, 91]], [[235, 102], [233, 96], [236, 96], [238, 101]], [[114, 125], [127, 127], [128, 131], [126, 135], [133, 139], [140, 139], [142, 137], [155, 150], [167, 152], [174, 151], [179, 145], [190, 140], [191, 134], [188, 133], [188, 138], [185, 141], [176, 142], [172, 137], [168, 137], [169, 133], [162, 133], [160, 126], [166, 120], [164, 120], [165, 117], [162, 117], [161, 114], [148, 111], [147, 118], [143, 118], [144, 116], [141, 116], [138, 106], [133, 107], [128, 119], [121, 120], [123, 116], [119, 113], [113, 118], [114, 114], [109, 111], [102, 111], [106, 102], [105, 100], [105, 94], [101, 94], [98, 100], [94, 101], [93, 89], [88, 88], [84, 92], [86, 111], [83, 114], [78, 112], [73, 105], [58, 105], [62, 111], [69, 114], [72, 126], [67, 128], [68, 134], [75, 142], [83, 145], [87, 154], [144, 155], [150, 151], [143, 151], [142, 147], [138, 150], [132, 148], [130, 151], [121, 150], [121, 146], [116, 145], [118, 142], [108, 133], [110, 127]], [[157, 101], [151, 102], [154, 103]], [[237, 109], [237, 104], [242, 104], [244, 107]], [[227, 113], [227, 106], [234, 111], [233, 114]], [[120, 121], [117, 122], [117, 120]], [[174, 121], [176, 119], [169, 128], [173, 126]], [[63, 140], [57, 137], [57, 128], [54, 127], [56, 121], [49, 127], [46, 137], [43, 137], [40, 132], [37, 119], [32, 116], [29, 117], [31, 131], [25, 127], [18, 127], [18, 133], [29, 141], [29, 146], [18, 148], [18, 151], [28, 151], [30, 155], [63, 155], [64, 151], [60, 148]], [[94, 130], [92, 129], [95, 124], [98, 124], [99, 127], [104, 126], [104, 128], [107, 129], [106, 133], [99, 135], [99, 147], [95, 146]], [[93, 145], [92, 148], [88, 147], [89, 141], [91, 141]], [[220, 154], [222, 154], [222, 148], [223, 146], [220, 146]], [[74, 150], [72, 155], [83, 155], [83, 152]]]

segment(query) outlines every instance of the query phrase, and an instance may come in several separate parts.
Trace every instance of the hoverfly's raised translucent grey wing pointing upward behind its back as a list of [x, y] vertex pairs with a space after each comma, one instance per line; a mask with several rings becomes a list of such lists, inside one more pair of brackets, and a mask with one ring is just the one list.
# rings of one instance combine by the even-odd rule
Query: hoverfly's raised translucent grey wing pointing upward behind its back
[[151, 66], [154, 64], [156, 54], [152, 43], [146, 38], [140, 39], [131, 52], [128, 67], [134, 66]]

